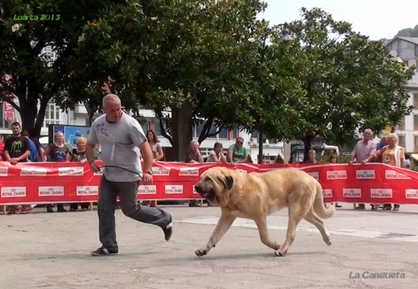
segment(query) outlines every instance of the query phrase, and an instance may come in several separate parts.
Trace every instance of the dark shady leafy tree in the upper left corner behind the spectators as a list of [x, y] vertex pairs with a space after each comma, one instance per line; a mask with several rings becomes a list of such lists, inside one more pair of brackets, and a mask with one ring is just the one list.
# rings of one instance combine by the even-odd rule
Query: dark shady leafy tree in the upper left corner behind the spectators
[[[123, 1], [0, 3], [0, 74], [11, 77], [8, 81], [0, 79], [0, 97], [19, 111], [22, 127], [31, 136], [40, 135], [49, 101], [68, 107], [79, 100], [98, 103], [100, 88], [111, 71], [109, 67], [101, 70], [102, 67], [93, 66], [96, 62], [91, 54], [83, 55], [82, 61], [74, 61], [75, 55], [80, 56], [76, 54], [77, 47], [88, 21], [100, 19], [103, 13], [116, 14], [125, 6]], [[50, 54], [41, 54], [45, 47], [52, 47], [54, 61]], [[91, 68], [89, 73], [79, 73], [86, 72], [86, 67]], [[19, 105], [13, 101], [14, 97]]]

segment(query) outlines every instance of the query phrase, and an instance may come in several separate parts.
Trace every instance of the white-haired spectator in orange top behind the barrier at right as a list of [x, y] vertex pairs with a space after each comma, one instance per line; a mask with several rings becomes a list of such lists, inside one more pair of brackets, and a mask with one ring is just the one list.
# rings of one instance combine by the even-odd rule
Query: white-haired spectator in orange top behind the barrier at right
[[[396, 146], [398, 138], [394, 134], [387, 134], [387, 146], [378, 150], [377, 155], [382, 157], [383, 164], [403, 168], [405, 164], [405, 153], [401, 146]], [[399, 210], [399, 204], [394, 204], [394, 211]], [[383, 205], [383, 210], [392, 210], [392, 204]]]

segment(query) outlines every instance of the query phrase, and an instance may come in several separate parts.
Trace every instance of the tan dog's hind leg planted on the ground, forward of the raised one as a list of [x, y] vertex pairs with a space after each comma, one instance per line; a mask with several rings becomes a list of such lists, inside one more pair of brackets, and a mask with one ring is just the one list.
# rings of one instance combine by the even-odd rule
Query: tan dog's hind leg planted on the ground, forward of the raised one
[[[302, 196], [300, 196], [302, 198]], [[302, 218], [307, 214], [308, 210], [311, 208], [311, 204], [309, 201], [303, 201], [300, 199], [295, 199], [292, 202], [289, 202], [291, 205], [289, 206], [288, 210], [288, 230], [286, 233], [286, 241], [284, 242], [283, 246], [277, 251], [274, 251], [276, 256], [285, 256], [286, 252], [288, 251], [289, 247], [295, 240], [296, 237], [296, 227], [302, 221]]]

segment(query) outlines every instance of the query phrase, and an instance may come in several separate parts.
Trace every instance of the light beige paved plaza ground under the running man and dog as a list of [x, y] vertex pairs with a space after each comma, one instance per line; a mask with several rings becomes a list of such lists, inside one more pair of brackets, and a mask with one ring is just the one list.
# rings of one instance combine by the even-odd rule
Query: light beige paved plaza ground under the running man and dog
[[[219, 208], [161, 208], [175, 218], [169, 242], [160, 228], [117, 210], [119, 255], [99, 257], [89, 255], [100, 247], [96, 211], [51, 214], [40, 208], [34, 214], [1, 215], [0, 288], [417, 288], [418, 206], [359, 212], [344, 204], [325, 221], [331, 247], [302, 221], [285, 257], [261, 244], [253, 221], [238, 219], [201, 258], [194, 250], [206, 244]], [[282, 210], [268, 219], [279, 244], [286, 236], [286, 214]], [[405, 278], [361, 278], [372, 272]]]

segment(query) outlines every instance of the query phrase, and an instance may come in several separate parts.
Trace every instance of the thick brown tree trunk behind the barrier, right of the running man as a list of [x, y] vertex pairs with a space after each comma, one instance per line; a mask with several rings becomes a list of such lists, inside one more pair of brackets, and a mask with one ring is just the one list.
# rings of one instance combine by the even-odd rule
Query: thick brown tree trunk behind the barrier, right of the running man
[[182, 107], [171, 107], [171, 136], [173, 138], [173, 155], [170, 159], [184, 162], [190, 141], [193, 139], [192, 126], [193, 106], [185, 102]]

